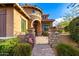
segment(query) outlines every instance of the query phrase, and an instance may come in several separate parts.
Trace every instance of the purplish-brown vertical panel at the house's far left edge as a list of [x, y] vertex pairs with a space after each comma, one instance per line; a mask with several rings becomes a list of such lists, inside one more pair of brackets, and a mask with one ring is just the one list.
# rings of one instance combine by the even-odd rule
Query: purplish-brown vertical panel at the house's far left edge
[[6, 9], [0, 7], [0, 37], [6, 36]]

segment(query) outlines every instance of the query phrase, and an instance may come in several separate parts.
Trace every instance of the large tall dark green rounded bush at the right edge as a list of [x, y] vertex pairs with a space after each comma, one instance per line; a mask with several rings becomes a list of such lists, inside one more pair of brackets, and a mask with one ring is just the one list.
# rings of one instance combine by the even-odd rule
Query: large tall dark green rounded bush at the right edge
[[69, 32], [71, 34], [71, 38], [76, 42], [79, 42], [79, 17], [74, 18], [69, 26]]

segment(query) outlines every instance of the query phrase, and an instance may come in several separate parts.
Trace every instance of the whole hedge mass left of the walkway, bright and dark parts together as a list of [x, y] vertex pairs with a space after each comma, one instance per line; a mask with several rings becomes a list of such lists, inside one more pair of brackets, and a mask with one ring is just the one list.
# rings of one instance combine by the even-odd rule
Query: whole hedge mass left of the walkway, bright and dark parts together
[[19, 43], [19, 38], [7, 39], [0, 43], [0, 56], [18, 56], [17, 52], [19, 55], [31, 55], [31, 45]]

